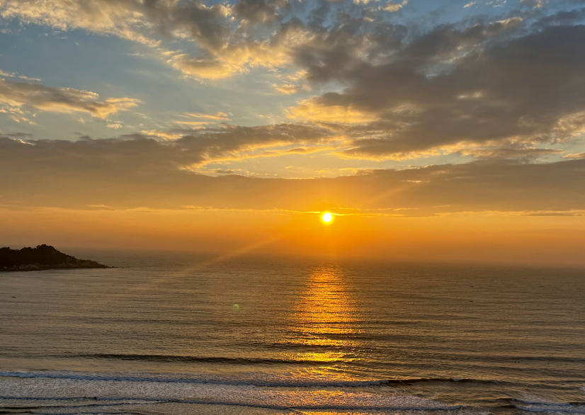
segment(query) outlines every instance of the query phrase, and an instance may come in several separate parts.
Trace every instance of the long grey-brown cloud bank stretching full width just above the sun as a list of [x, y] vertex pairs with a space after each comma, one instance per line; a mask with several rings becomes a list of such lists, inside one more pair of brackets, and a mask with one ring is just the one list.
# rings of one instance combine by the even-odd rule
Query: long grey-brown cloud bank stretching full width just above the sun
[[[585, 209], [585, 159], [550, 164], [477, 161], [420, 169], [363, 171], [311, 180], [212, 178], [183, 169], [302, 131], [234, 130], [164, 142], [143, 136], [77, 142], [0, 138], [3, 204], [14, 206], [311, 210], [323, 203], [399, 215], [448, 212], [567, 212]], [[321, 140], [304, 132], [302, 140]], [[313, 132], [314, 134], [314, 132]], [[254, 137], [263, 138], [254, 138]], [[299, 140], [299, 139], [297, 139]], [[13, 171], [19, 171], [18, 175]], [[219, 171], [216, 172], [220, 173]], [[396, 212], [394, 212], [396, 213]]]

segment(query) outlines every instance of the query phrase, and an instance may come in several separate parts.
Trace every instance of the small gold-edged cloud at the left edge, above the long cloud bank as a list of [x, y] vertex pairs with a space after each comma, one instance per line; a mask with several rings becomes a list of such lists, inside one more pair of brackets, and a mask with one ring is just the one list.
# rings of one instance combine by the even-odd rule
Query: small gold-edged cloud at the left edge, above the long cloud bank
[[0, 79], [0, 105], [13, 114], [23, 115], [22, 109], [28, 107], [52, 113], [83, 112], [106, 118], [140, 103], [133, 98], [107, 98], [105, 101], [98, 98], [98, 94], [91, 91]]

